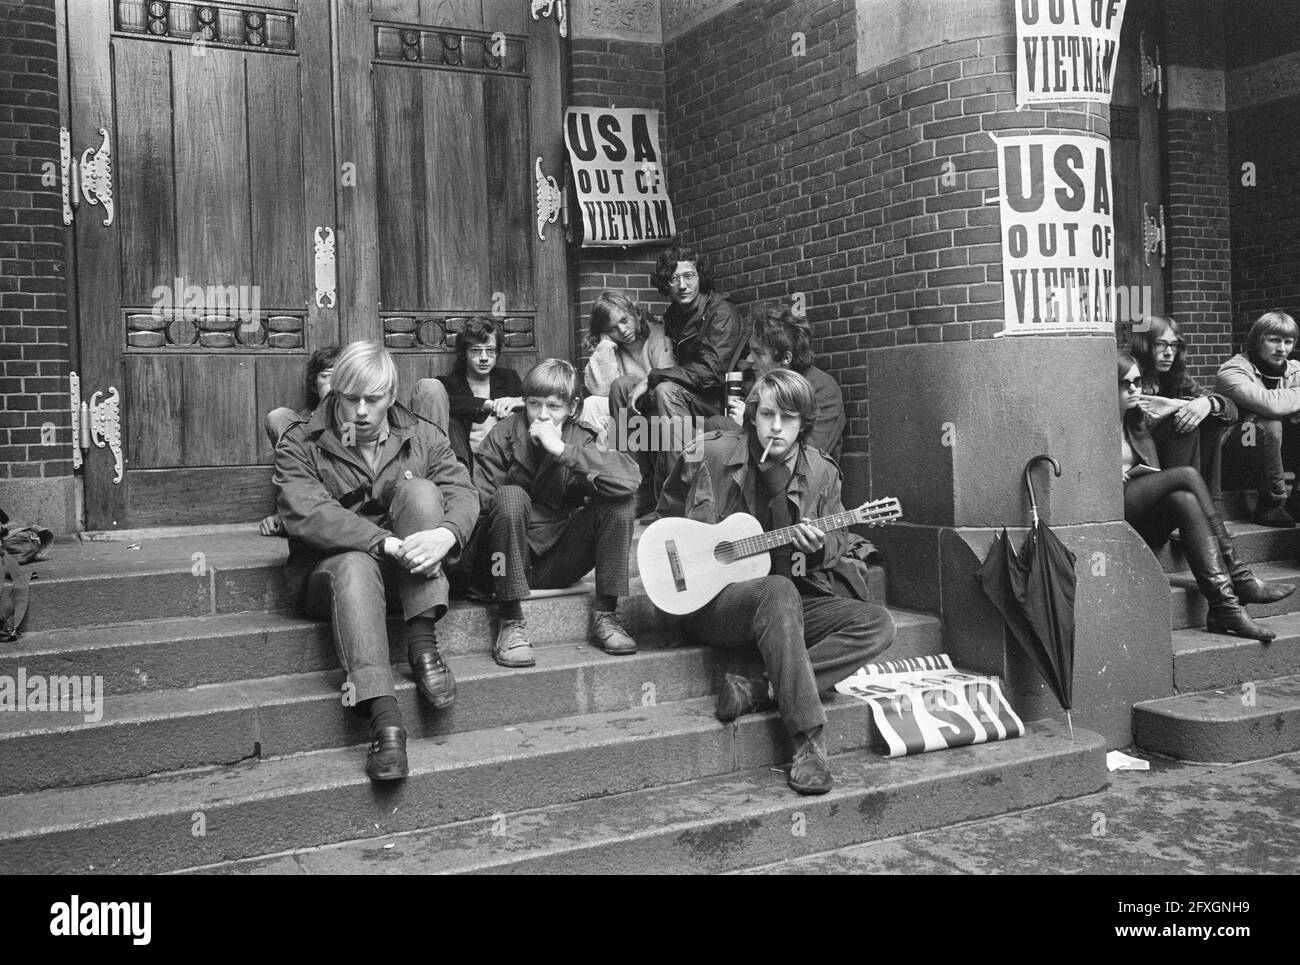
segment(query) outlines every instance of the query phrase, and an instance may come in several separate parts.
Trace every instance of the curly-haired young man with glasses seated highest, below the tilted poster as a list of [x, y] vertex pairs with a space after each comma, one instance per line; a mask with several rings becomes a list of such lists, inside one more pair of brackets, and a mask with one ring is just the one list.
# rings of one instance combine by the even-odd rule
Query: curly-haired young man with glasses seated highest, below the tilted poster
[[[662, 420], [656, 451], [638, 455], [642, 488], [637, 512], [654, 506], [658, 486], [668, 477], [694, 427], [723, 411], [727, 372], [740, 360], [746, 345], [745, 324], [727, 298], [714, 291], [708, 259], [681, 243], [659, 255], [655, 287], [672, 304], [663, 315], [663, 328], [672, 342], [676, 364], [654, 368], [645, 378], [624, 376], [610, 386], [610, 417], [615, 425], [637, 414]], [[662, 427], [671, 427], [664, 430]], [[649, 464], [647, 464], [649, 463]]]

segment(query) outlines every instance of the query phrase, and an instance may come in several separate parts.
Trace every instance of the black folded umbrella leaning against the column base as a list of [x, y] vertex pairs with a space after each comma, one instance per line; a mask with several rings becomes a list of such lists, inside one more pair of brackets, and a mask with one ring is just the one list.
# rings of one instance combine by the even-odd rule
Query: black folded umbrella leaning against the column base
[[978, 577], [1002, 614], [1011, 637], [1061, 702], [1072, 737], [1074, 554], [1039, 518], [1030, 469], [1040, 460], [1050, 462], [1056, 475], [1061, 475], [1061, 464], [1049, 455], [1037, 455], [1026, 463], [1024, 485], [1030, 490], [1034, 524], [1024, 545], [1017, 553], [1004, 528], [994, 537]]

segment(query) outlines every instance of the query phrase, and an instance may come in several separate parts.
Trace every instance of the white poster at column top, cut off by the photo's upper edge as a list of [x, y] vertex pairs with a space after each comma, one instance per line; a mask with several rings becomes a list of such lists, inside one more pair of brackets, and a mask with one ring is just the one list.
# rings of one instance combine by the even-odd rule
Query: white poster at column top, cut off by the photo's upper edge
[[1015, 103], [1110, 103], [1127, 0], [1014, 0]]

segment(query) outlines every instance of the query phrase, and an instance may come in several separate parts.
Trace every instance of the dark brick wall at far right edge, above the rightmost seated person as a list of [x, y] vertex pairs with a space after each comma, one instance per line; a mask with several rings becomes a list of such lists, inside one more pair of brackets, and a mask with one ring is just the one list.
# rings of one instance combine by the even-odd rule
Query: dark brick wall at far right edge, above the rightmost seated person
[[[1235, 112], [1230, 121], [1232, 294], [1238, 342], [1269, 308], [1300, 317], [1300, 95]], [[1242, 183], [1254, 164], [1256, 185]]]

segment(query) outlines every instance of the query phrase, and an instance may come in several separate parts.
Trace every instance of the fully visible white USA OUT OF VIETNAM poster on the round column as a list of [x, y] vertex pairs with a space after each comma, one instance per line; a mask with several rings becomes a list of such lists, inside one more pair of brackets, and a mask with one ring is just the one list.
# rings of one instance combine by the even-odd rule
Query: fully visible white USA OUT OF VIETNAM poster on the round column
[[1113, 330], [1110, 142], [1087, 134], [1018, 134], [996, 143], [1002, 334]]

